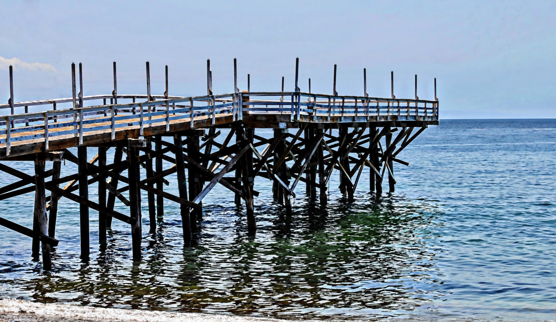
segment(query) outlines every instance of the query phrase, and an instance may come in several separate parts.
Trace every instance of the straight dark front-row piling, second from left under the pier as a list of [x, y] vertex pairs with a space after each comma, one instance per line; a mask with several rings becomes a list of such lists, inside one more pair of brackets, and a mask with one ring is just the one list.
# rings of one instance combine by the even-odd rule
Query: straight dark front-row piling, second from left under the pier
[[[89, 186], [87, 182], [87, 147], [77, 147], [77, 168], [79, 173], [79, 195], [80, 197], [89, 199]], [[79, 219], [81, 231], [81, 258], [83, 260], [89, 258], [89, 207], [79, 205]]]

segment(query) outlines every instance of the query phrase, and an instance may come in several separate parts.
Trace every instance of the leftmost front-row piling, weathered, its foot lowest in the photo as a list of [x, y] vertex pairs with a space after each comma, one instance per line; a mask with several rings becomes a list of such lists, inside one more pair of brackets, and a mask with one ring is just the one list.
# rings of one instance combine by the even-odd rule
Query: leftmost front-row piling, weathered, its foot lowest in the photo
[[[35, 159], [35, 202], [33, 217], [37, 219], [38, 229], [36, 234], [48, 234], [48, 219], [46, 217], [46, 195], [44, 192], [44, 161]], [[37, 239], [37, 238], [34, 238]], [[38, 241], [38, 239], [37, 239]], [[52, 267], [50, 258], [50, 245], [42, 242], [42, 267], [49, 270]]]

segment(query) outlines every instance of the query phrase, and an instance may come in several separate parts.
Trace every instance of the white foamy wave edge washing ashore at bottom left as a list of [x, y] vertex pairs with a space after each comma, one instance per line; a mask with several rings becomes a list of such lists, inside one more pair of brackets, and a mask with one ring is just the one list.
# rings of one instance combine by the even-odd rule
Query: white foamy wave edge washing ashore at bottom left
[[234, 315], [212, 315], [201, 313], [178, 313], [168, 311], [128, 310], [93, 308], [63, 303], [34, 303], [16, 299], [0, 299], [0, 314], [31, 313], [41, 316], [91, 320], [123, 320], [141, 322], [262, 322], [281, 321], [277, 319], [254, 318]]

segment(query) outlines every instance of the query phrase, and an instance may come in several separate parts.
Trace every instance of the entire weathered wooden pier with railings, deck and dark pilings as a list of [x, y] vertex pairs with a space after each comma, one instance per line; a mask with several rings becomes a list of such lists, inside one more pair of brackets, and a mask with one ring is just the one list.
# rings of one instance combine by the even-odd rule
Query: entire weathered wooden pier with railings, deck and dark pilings
[[[436, 79], [434, 100], [418, 98], [416, 76], [415, 98], [396, 98], [393, 74], [391, 97], [370, 97], [365, 71], [363, 95], [339, 95], [335, 66], [332, 94], [311, 93], [310, 85], [305, 93], [298, 86], [296, 60], [293, 91], [284, 90], [282, 78], [281, 91], [254, 93], [249, 91], [250, 85], [244, 91], [237, 87], [234, 59], [234, 93], [216, 95], [207, 60], [207, 95], [183, 97], [168, 95], [167, 67], [163, 95], [151, 94], [148, 62], [146, 95], [118, 94], [116, 63], [113, 71], [114, 90], [108, 95], [84, 96], [82, 65], [77, 78], [72, 64], [71, 98], [14, 103], [9, 69], [11, 98], [8, 104], [0, 104], [0, 109], [7, 111], [0, 116], [0, 171], [17, 180], [0, 187], [0, 200], [34, 191], [35, 201], [32, 228], [1, 217], [0, 225], [31, 237], [32, 254], [38, 257], [42, 253], [44, 269], [51, 268], [50, 248], [58, 244], [56, 217], [62, 197], [80, 204], [83, 259], [89, 256], [92, 208], [98, 211], [98, 242], [106, 243], [112, 219], [126, 222], [131, 225], [133, 260], [140, 260], [141, 190], [147, 192], [151, 228], [156, 227], [156, 218], [163, 216], [165, 200], [180, 206], [186, 244], [202, 220], [203, 198], [216, 185], [234, 192], [236, 203], [245, 203], [248, 232], [255, 234], [254, 203], [259, 196], [255, 177], [272, 181], [273, 197], [286, 213], [291, 213], [291, 200], [299, 193], [296, 187], [301, 182], [307, 196], [325, 204], [327, 183], [335, 169], [341, 192], [353, 198], [363, 181], [364, 167], [369, 167], [369, 190], [380, 196], [385, 176], [388, 190], [394, 191], [394, 164], [409, 165], [398, 159], [400, 152], [428, 125], [438, 125]], [[84, 106], [88, 101], [102, 104]], [[59, 104], [69, 108], [59, 109]], [[44, 109], [29, 112], [30, 106]], [[16, 109], [24, 113], [16, 114]], [[273, 129], [274, 136], [257, 135], [256, 129], [263, 128]], [[332, 129], [339, 135], [332, 135]], [[220, 144], [215, 138], [222, 132], [227, 135]], [[163, 140], [164, 136], [171, 139]], [[77, 147], [77, 155], [68, 150], [71, 147]], [[98, 149], [94, 156], [88, 155], [92, 148]], [[107, 160], [108, 149], [115, 150], [113, 161]], [[172, 166], [163, 168], [163, 160]], [[14, 169], [7, 161], [34, 162], [34, 176]], [[51, 169], [45, 167], [47, 161], [52, 161]], [[62, 177], [65, 161], [76, 163], [78, 172]], [[144, 178], [140, 167], [146, 169]], [[125, 170], [127, 177], [122, 175]], [[177, 175], [177, 196], [163, 188], [165, 177], [173, 173]], [[94, 185], [98, 185], [98, 203], [89, 199]], [[126, 191], [127, 198], [122, 195]], [[115, 211], [116, 202], [126, 205], [129, 212]]]

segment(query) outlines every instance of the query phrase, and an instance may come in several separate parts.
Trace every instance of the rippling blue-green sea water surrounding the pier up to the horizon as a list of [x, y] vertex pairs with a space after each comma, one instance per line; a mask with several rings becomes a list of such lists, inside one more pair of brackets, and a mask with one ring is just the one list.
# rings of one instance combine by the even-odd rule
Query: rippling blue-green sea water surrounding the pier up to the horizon
[[[288, 217], [257, 178], [249, 237], [244, 208], [217, 186], [191, 247], [171, 202], [149, 231], [143, 195], [137, 265], [127, 224], [114, 221], [99, 249], [92, 210], [81, 262], [78, 206], [62, 199], [52, 272], [31, 239], [0, 227], [0, 320], [554, 320], [555, 150], [556, 120], [441, 120], [398, 156], [410, 165], [395, 164], [395, 193], [369, 193], [365, 170], [350, 202], [336, 173], [327, 206], [300, 183]], [[32, 227], [32, 204], [33, 193], [0, 201], [2, 217]]]

